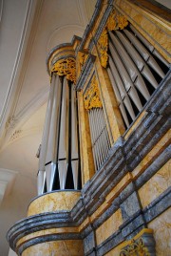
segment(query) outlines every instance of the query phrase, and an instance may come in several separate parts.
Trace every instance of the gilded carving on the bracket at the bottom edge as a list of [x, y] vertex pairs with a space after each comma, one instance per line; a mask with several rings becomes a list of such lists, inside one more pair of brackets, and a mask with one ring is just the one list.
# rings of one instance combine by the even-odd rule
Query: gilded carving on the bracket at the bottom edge
[[131, 244], [120, 252], [120, 256], [150, 256], [150, 254], [140, 238], [136, 242], [132, 240]]

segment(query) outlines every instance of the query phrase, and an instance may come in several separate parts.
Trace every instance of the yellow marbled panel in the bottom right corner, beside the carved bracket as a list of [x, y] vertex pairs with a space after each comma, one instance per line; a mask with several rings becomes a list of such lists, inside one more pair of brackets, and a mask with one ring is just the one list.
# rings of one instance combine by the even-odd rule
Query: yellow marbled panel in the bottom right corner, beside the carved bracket
[[154, 230], [156, 255], [171, 255], [171, 209], [163, 212], [158, 218], [148, 224]]

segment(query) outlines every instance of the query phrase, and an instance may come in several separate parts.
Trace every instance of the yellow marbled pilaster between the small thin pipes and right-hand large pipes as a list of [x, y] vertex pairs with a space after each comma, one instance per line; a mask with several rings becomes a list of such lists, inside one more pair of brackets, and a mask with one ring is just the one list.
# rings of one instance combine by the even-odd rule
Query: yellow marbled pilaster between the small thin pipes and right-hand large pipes
[[[98, 53], [96, 54], [98, 55]], [[96, 59], [95, 67], [96, 76], [100, 85], [101, 98], [111, 129], [111, 133], [109, 132], [109, 135], [112, 135], [112, 138], [110, 138], [110, 141], [112, 143], [113, 140], [116, 141], [124, 133], [123, 118], [118, 108], [118, 102], [116, 96], [114, 95], [110, 79], [106, 70], [101, 66], [99, 57], [97, 57]], [[106, 121], [106, 123], [108, 122]]]

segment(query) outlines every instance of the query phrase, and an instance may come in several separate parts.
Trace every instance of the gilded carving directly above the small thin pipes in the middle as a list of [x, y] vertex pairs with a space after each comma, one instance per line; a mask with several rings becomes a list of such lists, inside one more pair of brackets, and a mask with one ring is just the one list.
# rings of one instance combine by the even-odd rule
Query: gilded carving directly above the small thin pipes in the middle
[[102, 108], [103, 104], [100, 99], [100, 92], [98, 88], [98, 82], [94, 76], [89, 88], [85, 92], [84, 96], [85, 110], [90, 110], [92, 108]]

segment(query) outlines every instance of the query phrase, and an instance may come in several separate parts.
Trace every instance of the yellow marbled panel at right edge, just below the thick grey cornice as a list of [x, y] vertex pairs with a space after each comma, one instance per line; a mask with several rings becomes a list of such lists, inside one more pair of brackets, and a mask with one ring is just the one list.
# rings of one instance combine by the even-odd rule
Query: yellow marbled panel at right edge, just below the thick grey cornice
[[158, 198], [171, 185], [171, 161], [166, 162], [161, 169], [142, 187], [138, 193], [144, 208]]

